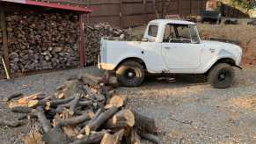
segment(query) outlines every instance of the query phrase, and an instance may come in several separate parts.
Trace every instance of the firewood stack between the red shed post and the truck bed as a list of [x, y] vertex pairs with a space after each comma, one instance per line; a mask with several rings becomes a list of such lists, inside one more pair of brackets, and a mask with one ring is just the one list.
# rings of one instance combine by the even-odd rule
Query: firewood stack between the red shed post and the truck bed
[[126, 32], [122, 31], [121, 29], [115, 29], [106, 23], [99, 23], [97, 25], [84, 25], [86, 65], [97, 64], [100, 52], [100, 40], [102, 37], [123, 40], [125, 36]]

